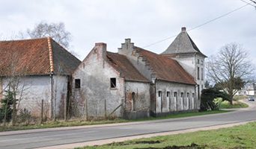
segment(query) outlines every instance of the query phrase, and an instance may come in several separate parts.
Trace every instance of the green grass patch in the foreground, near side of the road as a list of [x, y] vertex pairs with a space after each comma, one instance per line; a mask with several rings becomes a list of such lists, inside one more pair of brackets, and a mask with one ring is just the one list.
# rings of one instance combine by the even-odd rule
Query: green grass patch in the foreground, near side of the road
[[[153, 144], [148, 144], [147, 142], [153, 142]], [[155, 136], [147, 139], [134, 139], [127, 142], [116, 142], [110, 145], [86, 146], [76, 149], [166, 148], [174, 147], [174, 145], [180, 147], [191, 146], [193, 144], [195, 146], [192, 148], [198, 149], [256, 148], [256, 122], [249, 122], [247, 124], [218, 130], [201, 130], [194, 133]]]

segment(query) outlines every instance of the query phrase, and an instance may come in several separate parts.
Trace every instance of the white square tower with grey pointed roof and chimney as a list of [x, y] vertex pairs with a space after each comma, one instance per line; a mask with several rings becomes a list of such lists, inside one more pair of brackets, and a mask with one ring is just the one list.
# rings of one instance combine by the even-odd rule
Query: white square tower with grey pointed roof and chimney
[[[194, 77], [195, 82], [198, 84], [197, 92], [201, 92], [204, 89], [204, 59], [207, 56], [195, 45], [185, 27], [181, 28], [180, 34], [161, 55], [177, 60], [183, 66], [183, 69]], [[200, 98], [200, 95], [198, 98]]]

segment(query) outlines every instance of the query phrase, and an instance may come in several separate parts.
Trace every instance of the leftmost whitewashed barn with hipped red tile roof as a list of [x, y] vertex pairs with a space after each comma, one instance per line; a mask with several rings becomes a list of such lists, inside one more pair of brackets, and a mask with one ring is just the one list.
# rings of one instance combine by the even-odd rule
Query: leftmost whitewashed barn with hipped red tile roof
[[[52, 117], [64, 110], [68, 83], [73, 71], [81, 63], [50, 37], [0, 41], [0, 98], [8, 89], [10, 77], [18, 76], [19, 89], [24, 87], [19, 109], [40, 115], [40, 103]], [[61, 112], [62, 114], [63, 112]]]

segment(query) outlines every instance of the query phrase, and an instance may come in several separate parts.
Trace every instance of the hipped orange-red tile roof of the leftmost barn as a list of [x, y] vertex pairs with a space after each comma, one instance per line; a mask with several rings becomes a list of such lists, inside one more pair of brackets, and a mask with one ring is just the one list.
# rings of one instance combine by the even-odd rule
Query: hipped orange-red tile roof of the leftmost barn
[[[0, 41], [0, 55], [0, 75], [10, 72], [24, 72], [25, 75], [56, 74], [58, 68], [61, 68], [62, 75], [71, 75], [81, 63], [50, 37]], [[11, 68], [14, 70], [10, 71]]]

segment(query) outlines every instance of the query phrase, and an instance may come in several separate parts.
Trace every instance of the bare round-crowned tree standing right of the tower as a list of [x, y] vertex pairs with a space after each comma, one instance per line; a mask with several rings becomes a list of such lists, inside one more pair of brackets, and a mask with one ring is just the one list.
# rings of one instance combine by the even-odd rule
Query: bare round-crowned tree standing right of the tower
[[207, 62], [207, 77], [230, 95], [231, 104], [238, 89], [254, 80], [253, 74], [254, 66], [248, 59], [248, 52], [237, 43], [223, 46]]

